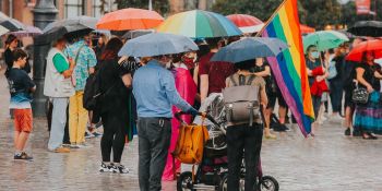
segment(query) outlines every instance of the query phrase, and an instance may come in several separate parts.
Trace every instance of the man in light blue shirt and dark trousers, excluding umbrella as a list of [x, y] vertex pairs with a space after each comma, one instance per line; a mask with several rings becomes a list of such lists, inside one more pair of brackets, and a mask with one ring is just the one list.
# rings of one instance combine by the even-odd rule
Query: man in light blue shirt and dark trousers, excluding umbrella
[[133, 94], [138, 109], [140, 190], [162, 190], [162, 176], [171, 140], [172, 105], [196, 115], [198, 110], [177, 92], [174, 74], [166, 64], [170, 56], [155, 56], [136, 70]]

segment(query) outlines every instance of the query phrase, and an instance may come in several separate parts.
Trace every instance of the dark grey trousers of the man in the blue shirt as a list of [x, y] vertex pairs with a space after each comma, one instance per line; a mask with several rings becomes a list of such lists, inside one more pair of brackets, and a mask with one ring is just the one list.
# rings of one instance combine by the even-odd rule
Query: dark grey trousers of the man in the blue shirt
[[138, 135], [140, 190], [159, 191], [170, 146], [171, 121], [163, 118], [139, 118]]

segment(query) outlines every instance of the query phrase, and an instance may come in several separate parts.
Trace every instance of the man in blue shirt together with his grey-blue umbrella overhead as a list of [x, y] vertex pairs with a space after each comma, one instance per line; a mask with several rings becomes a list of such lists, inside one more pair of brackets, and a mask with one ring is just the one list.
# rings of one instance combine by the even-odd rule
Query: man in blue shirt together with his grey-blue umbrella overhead
[[188, 37], [150, 34], [129, 40], [118, 56], [152, 57], [136, 70], [133, 94], [138, 109], [139, 181], [141, 191], [162, 190], [162, 176], [171, 140], [171, 106], [196, 115], [177, 92], [174, 74], [166, 69], [174, 53], [198, 50]]

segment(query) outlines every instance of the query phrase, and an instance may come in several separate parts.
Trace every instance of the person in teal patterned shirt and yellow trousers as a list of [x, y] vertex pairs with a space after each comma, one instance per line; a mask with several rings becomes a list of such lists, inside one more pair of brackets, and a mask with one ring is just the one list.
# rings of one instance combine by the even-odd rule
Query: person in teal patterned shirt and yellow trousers
[[85, 131], [87, 127], [88, 112], [83, 107], [83, 95], [86, 80], [94, 73], [97, 58], [89, 47], [91, 37], [85, 35], [65, 49], [65, 53], [75, 62], [72, 83], [75, 95], [69, 100], [69, 136], [71, 148], [85, 146]]

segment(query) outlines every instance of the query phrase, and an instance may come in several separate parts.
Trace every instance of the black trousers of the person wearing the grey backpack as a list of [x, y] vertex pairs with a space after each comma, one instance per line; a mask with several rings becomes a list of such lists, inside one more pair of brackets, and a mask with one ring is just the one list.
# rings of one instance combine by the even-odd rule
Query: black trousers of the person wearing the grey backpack
[[263, 139], [261, 124], [239, 124], [227, 129], [228, 191], [239, 191], [242, 156], [246, 164], [246, 191], [253, 191], [256, 184], [258, 163]]

